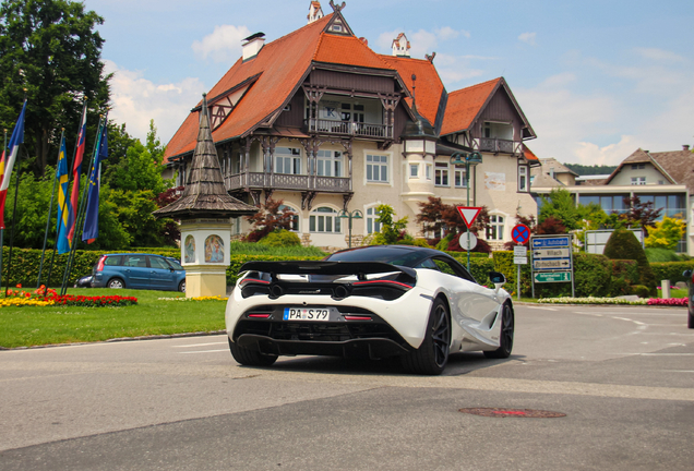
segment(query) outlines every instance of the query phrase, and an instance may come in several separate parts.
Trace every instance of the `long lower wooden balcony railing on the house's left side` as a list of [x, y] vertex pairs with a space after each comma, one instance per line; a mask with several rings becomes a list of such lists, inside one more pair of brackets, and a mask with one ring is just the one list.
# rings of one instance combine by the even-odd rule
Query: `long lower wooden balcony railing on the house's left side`
[[228, 191], [246, 188], [320, 191], [326, 193], [344, 193], [350, 191], [350, 179], [342, 177], [249, 172], [226, 176], [224, 182]]

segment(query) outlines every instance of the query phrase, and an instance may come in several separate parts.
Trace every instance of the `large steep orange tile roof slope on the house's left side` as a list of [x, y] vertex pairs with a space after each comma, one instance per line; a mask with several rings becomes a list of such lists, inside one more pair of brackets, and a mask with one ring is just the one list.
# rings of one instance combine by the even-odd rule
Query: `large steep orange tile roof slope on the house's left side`
[[[266, 44], [255, 58], [246, 62], [239, 59], [229, 69], [208, 92], [208, 99], [214, 99], [259, 73], [261, 76], [237, 104], [229, 119], [213, 131], [215, 142], [248, 133], [284, 105], [308, 71], [318, 52], [323, 29], [332, 16], [333, 13]], [[198, 112], [188, 116], [167, 145], [165, 162], [195, 148], [199, 120]]]

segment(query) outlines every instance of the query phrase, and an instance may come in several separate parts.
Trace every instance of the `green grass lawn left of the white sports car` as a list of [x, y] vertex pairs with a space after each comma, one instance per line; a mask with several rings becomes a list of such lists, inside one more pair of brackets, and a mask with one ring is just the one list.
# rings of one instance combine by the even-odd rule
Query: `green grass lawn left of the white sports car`
[[120, 337], [224, 329], [226, 301], [167, 301], [172, 291], [72, 288], [74, 295], [128, 295], [125, 307], [21, 306], [0, 309], [0, 347], [100, 341]]

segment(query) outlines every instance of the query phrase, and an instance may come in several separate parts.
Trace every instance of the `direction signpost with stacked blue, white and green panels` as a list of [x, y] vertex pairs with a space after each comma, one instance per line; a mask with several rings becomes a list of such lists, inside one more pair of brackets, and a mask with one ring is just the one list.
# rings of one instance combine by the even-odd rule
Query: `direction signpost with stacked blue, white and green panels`
[[572, 234], [530, 238], [533, 298], [535, 298], [536, 282], [571, 282], [571, 295], [576, 295], [572, 242]]

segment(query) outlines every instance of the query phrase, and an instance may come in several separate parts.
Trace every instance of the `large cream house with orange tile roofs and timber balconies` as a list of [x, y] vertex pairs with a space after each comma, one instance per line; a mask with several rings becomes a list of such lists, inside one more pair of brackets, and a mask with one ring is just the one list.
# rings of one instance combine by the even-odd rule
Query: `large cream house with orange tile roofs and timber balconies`
[[[536, 137], [503, 77], [448, 93], [435, 53], [409, 57], [404, 34], [393, 55], [357, 37], [342, 7], [323, 14], [310, 2], [309, 23], [265, 43], [244, 39], [242, 57], [207, 92], [215, 142], [229, 193], [261, 205], [283, 200], [297, 214], [292, 230], [304, 243], [345, 247], [378, 231], [376, 206], [391, 205], [407, 230], [426, 237], [415, 219], [429, 196], [447, 204], [487, 206], [492, 245], [511, 240], [516, 215], [536, 213], [524, 145]], [[195, 146], [202, 101], [166, 148], [180, 183]], [[478, 152], [482, 162], [460, 157]], [[462, 154], [460, 154], [462, 153]], [[457, 157], [457, 159], [456, 159]], [[458, 164], [455, 164], [458, 161]], [[349, 219], [347, 240], [343, 212]], [[234, 233], [250, 228], [232, 221]]]

